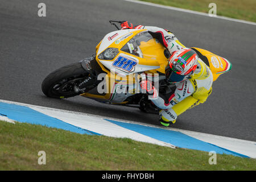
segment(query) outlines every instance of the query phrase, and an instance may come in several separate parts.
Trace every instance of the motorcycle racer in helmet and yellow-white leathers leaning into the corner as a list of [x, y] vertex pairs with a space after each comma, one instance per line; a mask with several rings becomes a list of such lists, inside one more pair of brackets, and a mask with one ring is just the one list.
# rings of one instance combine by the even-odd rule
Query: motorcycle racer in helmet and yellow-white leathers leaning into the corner
[[199, 58], [194, 49], [183, 46], [172, 32], [163, 28], [133, 26], [127, 21], [123, 21], [121, 27], [122, 29], [148, 30], [152, 37], [158, 39], [171, 53], [165, 76], [168, 82], [175, 85], [174, 92], [162, 94], [149, 80], [141, 81], [141, 88], [146, 89], [148, 95], [152, 96], [148, 99], [161, 109], [159, 121], [163, 126], [175, 123], [178, 115], [207, 100], [212, 93], [213, 75], [208, 65]]

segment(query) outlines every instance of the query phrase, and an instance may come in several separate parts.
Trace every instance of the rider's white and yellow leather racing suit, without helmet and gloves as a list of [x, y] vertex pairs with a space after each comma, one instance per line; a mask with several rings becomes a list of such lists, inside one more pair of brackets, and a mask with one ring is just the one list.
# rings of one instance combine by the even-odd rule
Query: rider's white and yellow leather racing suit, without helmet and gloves
[[[152, 26], [137, 26], [137, 29], [146, 29], [162, 43], [172, 54], [185, 48], [176, 36], [168, 30]], [[171, 95], [159, 94], [159, 97], [150, 98], [160, 109], [159, 119], [162, 125], [175, 123], [178, 115], [207, 100], [212, 92], [213, 75], [210, 68], [199, 58], [195, 72], [186, 80], [176, 83], [175, 92]]]

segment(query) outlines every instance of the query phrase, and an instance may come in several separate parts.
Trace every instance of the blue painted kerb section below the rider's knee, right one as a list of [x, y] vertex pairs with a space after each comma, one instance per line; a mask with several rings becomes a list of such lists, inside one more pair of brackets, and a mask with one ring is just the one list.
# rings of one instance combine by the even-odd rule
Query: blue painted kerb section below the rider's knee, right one
[[189, 137], [188, 135], [180, 133], [179, 131], [164, 130], [150, 126], [137, 125], [133, 123], [118, 122], [110, 119], [106, 120], [114, 123], [115, 125], [125, 127], [126, 129], [133, 130], [137, 133], [141, 133], [143, 135], [166, 143], [173, 144], [174, 146], [180, 148], [189, 148], [193, 150], [201, 150], [207, 152], [215, 151], [217, 154], [229, 154], [249, 158], [246, 155], [238, 154], [237, 152], [233, 152], [225, 148], [215, 146], [214, 144], [210, 144], [207, 142], [203, 142], [199, 139]]

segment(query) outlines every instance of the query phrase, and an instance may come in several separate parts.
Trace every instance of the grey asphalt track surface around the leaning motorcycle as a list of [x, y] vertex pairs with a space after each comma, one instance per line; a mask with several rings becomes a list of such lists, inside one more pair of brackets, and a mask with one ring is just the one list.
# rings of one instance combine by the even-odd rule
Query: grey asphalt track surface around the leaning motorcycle
[[94, 53], [115, 30], [109, 20], [129, 20], [167, 28], [185, 46], [207, 49], [233, 65], [213, 83], [207, 102], [172, 127], [256, 141], [256, 26], [118, 0], [44, 0], [46, 17], [39, 18], [40, 2], [0, 1], [0, 99], [159, 125], [158, 115], [137, 108], [84, 97], [56, 100], [41, 90], [50, 72]]

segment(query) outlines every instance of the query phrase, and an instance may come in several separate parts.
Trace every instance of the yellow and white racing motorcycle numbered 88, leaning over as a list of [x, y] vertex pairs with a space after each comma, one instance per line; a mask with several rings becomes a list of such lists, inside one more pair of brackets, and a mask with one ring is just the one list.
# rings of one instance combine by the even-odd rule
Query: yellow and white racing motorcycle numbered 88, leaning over
[[[165, 80], [170, 52], [146, 29], [119, 30], [118, 21], [109, 21], [117, 31], [105, 35], [92, 57], [57, 69], [42, 82], [43, 93], [52, 98], [83, 96], [105, 104], [139, 107], [158, 113], [139, 86], [141, 73], [157, 82], [159, 93], [174, 92], [175, 85]], [[232, 64], [224, 57], [193, 47], [213, 73], [215, 81]]]

